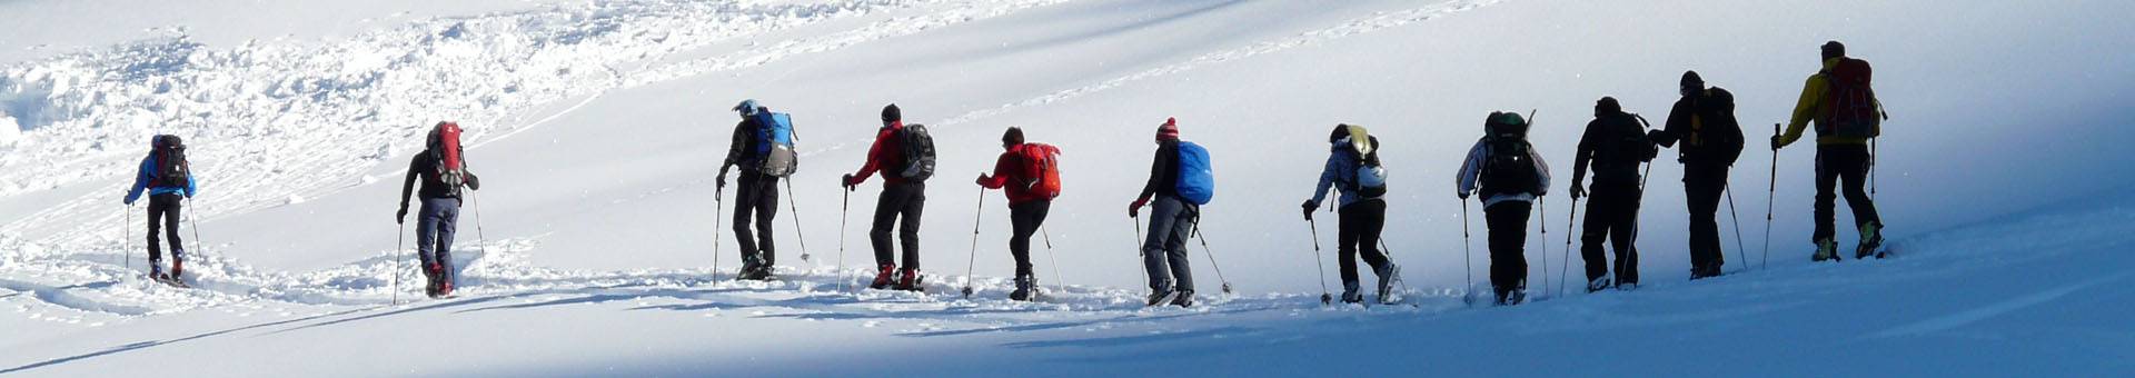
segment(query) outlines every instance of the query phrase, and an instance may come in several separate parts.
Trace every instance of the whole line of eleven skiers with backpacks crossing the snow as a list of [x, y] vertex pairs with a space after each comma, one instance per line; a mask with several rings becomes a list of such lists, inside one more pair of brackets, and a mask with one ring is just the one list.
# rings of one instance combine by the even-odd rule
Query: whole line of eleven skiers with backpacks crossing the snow
[[[1725, 273], [1727, 263], [1719, 235], [1719, 205], [1734, 203], [1727, 186], [1729, 171], [1742, 156], [1746, 137], [1736, 120], [1734, 94], [1706, 85], [1697, 73], [1682, 73], [1678, 81], [1680, 98], [1670, 109], [1661, 128], [1652, 128], [1646, 117], [1625, 111], [1612, 96], [1595, 100], [1593, 120], [1571, 158], [1571, 216], [1578, 218], [1578, 203], [1586, 201], [1586, 222], [1578, 233], [1578, 254], [1584, 261], [1586, 290], [1629, 290], [1640, 284], [1638, 229], [1646, 177], [1661, 147], [1676, 149], [1682, 162], [1682, 190], [1689, 209], [1689, 256], [1691, 280]], [[773, 243], [773, 220], [779, 209], [779, 184], [786, 182], [788, 209], [798, 199], [792, 196], [790, 177], [798, 171], [798, 141], [792, 115], [777, 113], [758, 100], [741, 100], [732, 107], [741, 117], [715, 177], [715, 224], [726, 218], [726, 177], [739, 169], [734, 179], [732, 233], [739, 246], [741, 269], [737, 280], [775, 280], [777, 246]], [[1527, 229], [1531, 214], [1546, 207], [1552, 175], [1544, 152], [1527, 141], [1535, 115], [1514, 111], [1492, 111], [1484, 117], [1484, 135], [1469, 147], [1454, 177], [1454, 194], [1462, 207], [1462, 239], [1469, 237], [1469, 199], [1482, 205], [1488, 250], [1488, 284], [1494, 303], [1522, 303], [1529, 295]], [[1883, 222], [1872, 203], [1875, 139], [1881, 135], [1883, 113], [1870, 88], [1870, 66], [1864, 60], [1847, 58], [1845, 45], [1832, 41], [1821, 45], [1821, 70], [1802, 85], [1791, 120], [1774, 124], [1770, 147], [1772, 188], [1766, 205], [1766, 250], [1770, 250], [1772, 205], [1776, 194], [1778, 149], [1800, 141], [1806, 126], [1815, 124], [1815, 243], [1813, 261], [1838, 261], [1834, 241], [1834, 207], [1845, 194], [1853, 214], [1853, 229], [1860, 233], [1855, 258], [1883, 254]], [[882, 190], [875, 201], [873, 222], [867, 233], [873, 248], [875, 278], [867, 284], [873, 290], [924, 290], [927, 275], [920, 271], [920, 218], [927, 209], [927, 184], [935, 177], [935, 143], [924, 124], [905, 124], [903, 109], [882, 107], [882, 124], [867, 149], [865, 162], [839, 175], [843, 188], [841, 209], [850, 209], [852, 194], [869, 177], [882, 175]], [[404, 224], [408, 199], [421, 205], [416, 214], [416, 261], [427, 278], [429, 297], [450, 297], [457, 284], [453, 267], [453, 239], [459, 231], [461, 203], [472, 201], [472, 190], [480, 190], [480, 179], [468, 169], [468, 156], [459, 143], [461, 128], [455, 122], [436, 124], [425, 149], [416, 154], [401, 186], [395, 222]], [[1044, 233], [1053, 201], [1061, 194], [1059, 158], [1063, 147], [1029, 141], [1025, 128], [1001, 132], [1001, 154], [991, 173], [976, 177], [980, 190], [1001, 190], [1008, 199], [1010, 239], [1008, 252], [1014, 256], [1014, 301], [1042, 299], [1038, 273], [1031, 263], [1031, 239], [1044, 237], [1050, 250], [1050, 235]], [[1189, 265], [1189, 239], [1200, 237], [1202, 207], [1215, 199], [1215, 171], [1211, 147], [1181, 139], [1179, 120], [1164, 120], [1153, 137], [1149, 179], [1129, 201], [1127, 216], [1136, 224], [1136, 252], [1140, 254], [1149, 286], [1149, 305], [1191, 308], [1196, 282]], [[1394, 141], [1398, 143], [1398, 141]], [[1337, 214], [1337, 267], [1343, 303], [1364, 303], [1358, 258], [1377, 275], [1373, 301], [1403, 301], [1401, 265], [1390, 258], [1381, 231], [1388, 214], [1388, 167], [1381, 160], [1379, 137], [1364, 126], [1337, 124], [1328, 132], [1328, 158], [1315, 179], [1311, 196], [1300, 205], [1313, 231], [1313, 250], [1319, 252], [1319, 231], [1315, 211], [1328, 207]], [[1588, 182], [1591, 173], [1591, 182]], [[416, 184], [421, 182], [421, 188]], [[1843, 184], [1843, 186], [1840, 186]], [[1870, 190], [1864, 190], [1870, 188]], [[190, 199], [199, 194], [192, 167], [186, 162], [186, 145], [179, 137], [158, 135], [149, 154], [141, 160], [139, 173], [126, 192], [124, 203], [132, 207], [141, 194], [147, 203], [147, 278], [173, 286], [186, 286], [186, 248], [179, 239], [179, 218]], [[1332, 203], [1328, 196], [1334, 196]], [[986, 211], [986, 196], [978, 199], [978, 211]], [[1729, 205], [1734, 209], [1734, 205]], [[478, 205], [474, 207], [478, 214]], [[1146, 211], [1146, 235], [1142, 216]], [[1546, 209], [1541, 209], [1548, 214]], [[130, 209], [128, 209], [130, 214]], [[841, 211], [845, 214], [845, 211]], [[1546, 222], [1546, 220], [1541, 220]], [[128, 226], [132, 220], [128, 218]], [[801, 226], [794, 220], [794, 226]], [[843, 271], [843, 226], [839, 220], [839, 271]], [[1567, 224], [1567, 233], [1569, 233]], [[476, 229], [480, 229], [476, 224]], [[715, 226], [719, 229], [719, 226]], [[897, 231], [892, 235], [892, 229]], [[1548, 235], [1548, 226], [1544, 237]], [[194, 226], [199, 233], [199, 226]], [[713, 231], [719, 235], [722, 231]], [[974, 226], [971, 252], [976, 269], [978, 233]], [[1740, 233], [1740, 222], [1736, 226]], [[1746, 265], [1740, 235], [1736, 256]], [[199, 235], [194, 235], [199, 241]], [[1569, 275], [1569, 254], [1573, 237], [1565, 237], [1563, 275]], [[715, 237], [717, 248], [717, 237]], [[1465, 241], [1467, 243], [1467, 241]], [[1544, 239], [1544, 246], [1548, 239]], [[171, 265], [162, 265], [162, 250], [169, 246]], [[1206, 241], [1202, 241], [1206, 250]], [[807, 248], [803, 241], [803, 258]], [[128, 254], [130, 258], [130, 254]], [[1211, 267], [1230, 293], [1230, 282], [1221, 278], [1221, 267]], [[1465, 256], [1471, 258], [1471, 256]], [[1317, 261], [1317, 258], [1315, 258]], [[128, 261], [130, 265], [130, 261]], [[713, 269], [717, 271], [717, 252]], [[1544, 263], [1548, 267], [1548, 263]], [[395, 269], [397, 271], [397, 269]], [[1473, 271], [1473, 267], [1469, 269]], [[1322, 282], [1326, 282], [1322, 265]], [[1544, 271], [1548, 275], [1548, 271]], [[399, 273], [395, 273], [395, 280]], [[1055, 280], [1059, 280], [1055, 267]], [[1548, 278], [1544, 278], [1546, 282]], [[1473, 286], [1473, 278], [1467, 280]], [[397, 282], [395, 282], [397, 286]], [[1546, 288], [1546, 284], [1544, 284]], [[1326, 288], [1324, 288], [1326, 290]], [[395, 288], [395, 295], [399, 290]], [[963, 295], [971, 295], [969, 280]], [[1337, 295], [1322, 293], [1322, 301], [1332, 303]]]

